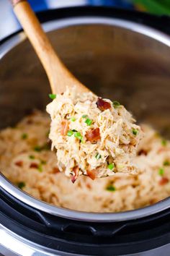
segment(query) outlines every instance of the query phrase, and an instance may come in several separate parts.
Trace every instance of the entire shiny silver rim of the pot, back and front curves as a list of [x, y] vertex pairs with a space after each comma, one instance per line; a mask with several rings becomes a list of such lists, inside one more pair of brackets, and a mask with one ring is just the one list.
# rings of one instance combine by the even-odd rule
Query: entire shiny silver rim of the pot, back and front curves
[[[135, 33], [140, 33], [153, 38], [166, 46], [170, 47], [170, 36], [165, 33], [148, 27], [146, 25], [140, 25], [136, 22], [130, 22], [127, 20], [121, 20], [120, 18], [111, 18], [111, 17], [71, 17], [64, 18], [61, 20], [54, 20], [50, 22], [45, 22], [43, 27], [45, 32], [50, 32], [52, 30], [60, 29], [63, 27], [73, 26], [73, 25], [111, 25], [115, 27], [122, 27], [127, 30], [132, 30]], [[2, 43], [0, 48], [0, 59], [14, 46], [17, 46], [19, 43], [24, 41], [26, 36], [23, 32], [14, 35], [9, 40], [6, 40]], [[147, 206], [145, 208], [140, 208], [137, 210], [128, 210], [120, 213], [86, 213], [76, 210], [69, 210], [66, 208], [59, 208], [57, 206], [50, 205], [46, 202], [35, 199], [28, 195], [26, 192], [18, 189], [12, 183], [10, 183], [3, 174], [0, 174], [0, 186], [9, 192], [10, 195], [13, 195], [18, 200], [24, 202], [26, 205], [30, 205], [32, 208], [41, 210], [45, 213], [50, 213], [53, 216], [59, 216], [61, 218], [73, 219], [76, 221], [91, 221], [91, 222], [110, 222], [110, 221], [130, 221], [133, 219], [143, 218], [146, 216], [151, 216], [155, 213], [159, 213], [163, 210], [169, 208], [170, 197], [167, 197], [160, 202], [157, 202], [154, 205]]]

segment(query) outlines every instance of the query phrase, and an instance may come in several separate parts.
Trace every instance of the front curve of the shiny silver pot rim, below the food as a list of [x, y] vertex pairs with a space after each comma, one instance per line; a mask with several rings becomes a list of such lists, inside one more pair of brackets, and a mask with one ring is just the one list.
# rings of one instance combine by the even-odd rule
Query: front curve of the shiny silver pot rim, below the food
[[129, 210], [122, 213], [84, 213], [76, 210], [67, 210], [64, 208], [58, 208], [53, 205], [48, 205], [45, 202], [35, 199], [25, 192], [22, 192], [17, 187], [14, 187], [8, 182], [2, 175], [0, 176], [0, 186], [3, 187], [10, 194], [17, 197], [27, 205], [32, 206], [38, 210], [42, 210], [45, 213], [50, 213], [54, 216], [65, 217], [79, 221], [94, 221], [94, 222], [110, 222], [110, 221], [128, 221], [137, 218], [143, 218], [151, 216], [154, 213], [161, 212], [169, 208], [170, 197], [165, 200], [156, 203], [155, 205], [148, 206], [146, 208], [140, 208], [138, 210]]

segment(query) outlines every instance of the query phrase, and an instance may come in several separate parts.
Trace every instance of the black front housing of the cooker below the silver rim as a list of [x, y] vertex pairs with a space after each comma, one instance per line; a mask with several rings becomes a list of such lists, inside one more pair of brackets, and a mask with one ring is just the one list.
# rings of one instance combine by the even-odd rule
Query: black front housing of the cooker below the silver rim
[[133, 221], [84, 222], [51, 216], [0, 191], [1, 225], [27, 239], [26, 248], [35, 243], [35, 252], [40, 246], [54, 255], [169, 255], [169, 209]]

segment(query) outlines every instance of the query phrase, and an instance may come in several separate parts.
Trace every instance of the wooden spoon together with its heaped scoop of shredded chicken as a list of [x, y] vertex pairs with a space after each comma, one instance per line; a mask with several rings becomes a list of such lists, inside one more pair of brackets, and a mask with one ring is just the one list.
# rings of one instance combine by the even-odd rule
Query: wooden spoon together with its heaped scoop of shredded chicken
[[14, 12], [35, 48], [50, 82], [53, 100], [50, 140], [60, 171], [75, 182], [116, 172], [137, 174], [133, 164], [143, 132], [118, 101], [100, 98], [76, 80], [55, 53], [27, 1], [13, 0]]

